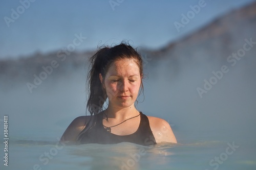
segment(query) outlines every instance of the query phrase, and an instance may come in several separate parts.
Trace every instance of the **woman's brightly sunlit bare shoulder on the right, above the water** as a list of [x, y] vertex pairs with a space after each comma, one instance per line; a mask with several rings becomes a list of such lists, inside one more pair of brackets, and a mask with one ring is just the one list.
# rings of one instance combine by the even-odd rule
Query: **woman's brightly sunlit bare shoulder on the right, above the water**
[[153, 132], [153, 135], [157, 143], [161, 142], [172, 142], [177, 143], [176, 137], [173, 133], [172, 128], [162, 118], [147, 116], [148, 121], [150, 122], [150, 128]]

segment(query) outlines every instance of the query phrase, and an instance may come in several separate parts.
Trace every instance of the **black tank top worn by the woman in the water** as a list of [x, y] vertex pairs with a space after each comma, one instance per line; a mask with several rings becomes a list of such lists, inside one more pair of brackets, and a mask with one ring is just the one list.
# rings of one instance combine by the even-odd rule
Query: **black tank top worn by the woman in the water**
[[103, 113], [96, 115], [94, 125], [84, 132], [80, 137], [80, 143], [99, 143], [99, 144], [114, 144], [120, 142], [132, 142], [141, 145], [156, 144], [155, 137], [150, 128], [150, 123], [146, 115], [140, 112], [140, 125], [136, 132], [130, 135], [116, 135], [106, 131], [102, 125]]

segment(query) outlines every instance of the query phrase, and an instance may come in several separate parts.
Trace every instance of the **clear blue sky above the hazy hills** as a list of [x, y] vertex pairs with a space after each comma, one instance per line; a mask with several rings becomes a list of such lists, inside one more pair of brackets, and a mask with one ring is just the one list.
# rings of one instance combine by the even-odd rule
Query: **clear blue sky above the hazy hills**
[[75, 34], [87, 37], [76, 47], [79, 51], [123, 39], [131, 40], [134, 46], [159, 48], [253, 2], [205, 0], [200, 12], [178, 32], [174, 22], [181, 23], [181, 14], [186, 15], [199, 1], [113, 0], [118, 5], [112, 8], [109, 0], [33, 0], [8, 27], [5, 17], [12, 19], [12, 9], [23, 10], [21, 2], [29, 1], [0, 1], [0, 59], [57, 51], [72, 43]]

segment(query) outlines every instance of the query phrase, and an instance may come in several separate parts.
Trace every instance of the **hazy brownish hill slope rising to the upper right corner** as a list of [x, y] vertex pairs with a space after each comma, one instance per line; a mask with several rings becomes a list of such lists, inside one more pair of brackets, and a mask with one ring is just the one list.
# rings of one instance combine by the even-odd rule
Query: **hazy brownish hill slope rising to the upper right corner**
[[[183, 66], [206, 62], [223, 64], [250, 38], [256, 41], [256, 2], [215, 19], [189, 36], [149, 53], [148, 57], [168, 59], [166, 66], [177, 74]], [[247, 52], [247, 55], [253, 54], [256, 54], [256, 47]]]

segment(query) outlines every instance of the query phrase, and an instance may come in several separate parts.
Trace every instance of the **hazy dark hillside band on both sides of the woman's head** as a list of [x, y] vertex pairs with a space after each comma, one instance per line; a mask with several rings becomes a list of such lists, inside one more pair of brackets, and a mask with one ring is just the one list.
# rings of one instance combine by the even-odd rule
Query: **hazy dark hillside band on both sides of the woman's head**
[[[225, 62], [229, 55], [243, 47], [244, 39], [250, 38], [256, 41], [256, 2], [217, 18], [206, 27], [179, 41], [169, 43], [160, 50], [142, 49], [141, 52], [152, 59], [153, 65], [161, 59], [166, 60], [166, 66], [177, 73], [184, 64], [200, 65], [202, 61]], [[51, 65], [53, 60], [56, 61], [54, 74], [65, 75], [74, 69], [84, 68], [88, 57], [93, 53], [73, 52], [66, 55], [52, 52], [45, 55], [34, 54], [18, 60], [2, 60], [0, 79], [32, 80], [33, 75], [39, 75], [43, 71], [42, 67]], [[249, 53], [256, 54], [256, 47]]]

